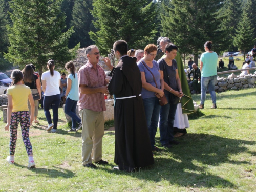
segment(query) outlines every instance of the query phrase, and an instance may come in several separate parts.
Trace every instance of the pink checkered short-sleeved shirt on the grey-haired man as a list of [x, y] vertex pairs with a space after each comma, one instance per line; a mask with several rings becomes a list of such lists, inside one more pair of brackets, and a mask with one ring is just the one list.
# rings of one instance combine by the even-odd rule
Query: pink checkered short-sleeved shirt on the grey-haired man
[[[106, 85], [106, 74], [104, 70], [97, 64], [96, 69], [88, 61], [78, 71], [78, 83], [86, 84], [89, 88], [97, 88]], [[79, 111], [88, 109], [92, 111], [106, 111], [104, 93], [98, 92], [94, 94], [82, 94], [79, 89]]]

